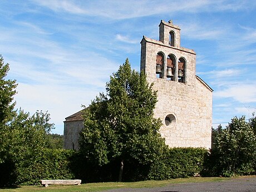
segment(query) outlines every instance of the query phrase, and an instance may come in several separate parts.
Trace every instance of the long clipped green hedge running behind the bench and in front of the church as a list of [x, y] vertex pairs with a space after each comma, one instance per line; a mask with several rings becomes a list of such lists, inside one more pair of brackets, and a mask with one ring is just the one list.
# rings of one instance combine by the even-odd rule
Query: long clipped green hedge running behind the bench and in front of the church
[[[164, 180], [184, 178], [200, 173], [207, 150], [201, 148], [169, 149], [164, 157], [152, 164], [136, 160], [124, 161], [123, 181]], [[4, 169], [3, 169], [4, 168]], [[73, 150], [45, 149], [33, 161], [6, 161], [0, 164], [0, 185], [38, 185], [41, 179], [82, 179], [83, 183], [117, 181], [120, 161], [97, 166]]]

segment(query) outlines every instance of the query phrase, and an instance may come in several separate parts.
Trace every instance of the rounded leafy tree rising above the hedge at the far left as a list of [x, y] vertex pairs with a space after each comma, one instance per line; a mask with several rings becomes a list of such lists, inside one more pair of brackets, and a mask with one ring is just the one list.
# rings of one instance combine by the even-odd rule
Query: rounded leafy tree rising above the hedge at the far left
[[30, 116], [28, 112], [19, 109], [12, 111], [12, 114], [12, 119], [0, 132], [2, 160], [23, 161], [30, 159], [28, 156], [25, 158], [24, 155], [36, 156], [44, 147], [50, 148], [52, 140], [49, 132], [54, 128], [54, 124], [48, 122], [50, 114], [47, 111], [45, 113], [36, 111]]

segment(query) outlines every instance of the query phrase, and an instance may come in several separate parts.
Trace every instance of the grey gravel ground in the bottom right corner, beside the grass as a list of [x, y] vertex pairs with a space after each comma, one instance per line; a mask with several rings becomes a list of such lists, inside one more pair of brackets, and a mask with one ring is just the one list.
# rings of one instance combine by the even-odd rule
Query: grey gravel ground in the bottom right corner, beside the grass
[[170, 184], [157, 188], [123, 188], [105, 192], [256, 192], [256, 178], [234, 178], [227, 181]]

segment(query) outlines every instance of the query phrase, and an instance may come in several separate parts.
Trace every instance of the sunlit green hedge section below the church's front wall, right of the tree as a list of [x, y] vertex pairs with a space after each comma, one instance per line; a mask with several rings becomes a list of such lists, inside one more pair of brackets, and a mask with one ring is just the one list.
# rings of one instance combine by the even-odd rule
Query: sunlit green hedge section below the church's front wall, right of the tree
[[173, 148], [154, 162], [149, 171], [148, 179], [166, 180], [186, 178], [204, 169], [204, 158], [208, 150], [203, 148]]

